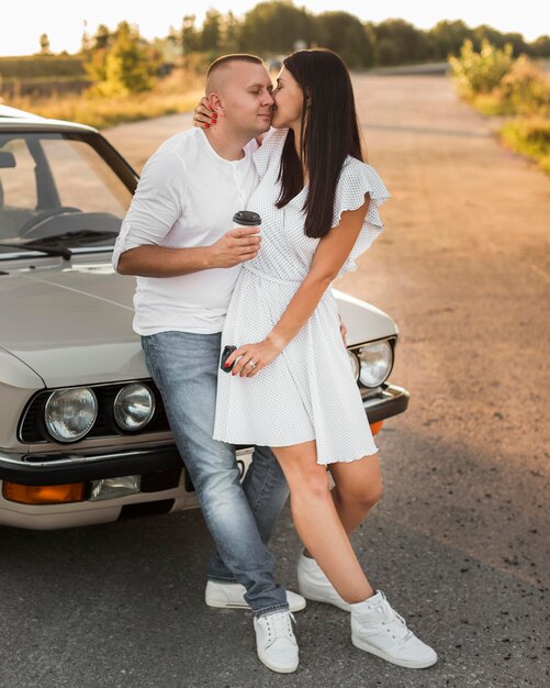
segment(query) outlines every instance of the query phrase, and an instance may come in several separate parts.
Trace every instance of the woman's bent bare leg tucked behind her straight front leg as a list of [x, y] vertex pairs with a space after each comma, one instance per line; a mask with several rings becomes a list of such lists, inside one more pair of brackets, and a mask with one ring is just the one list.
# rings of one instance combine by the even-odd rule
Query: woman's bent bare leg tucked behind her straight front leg
[[[335, 482], [330, 490], [334, 506], [346, 533], [351, 535], [382, 497], [379, 455], [363, 456], [347, 464], [330, 464], [328, 469]], [[312, 556], [307, 548], [304, 554]]]

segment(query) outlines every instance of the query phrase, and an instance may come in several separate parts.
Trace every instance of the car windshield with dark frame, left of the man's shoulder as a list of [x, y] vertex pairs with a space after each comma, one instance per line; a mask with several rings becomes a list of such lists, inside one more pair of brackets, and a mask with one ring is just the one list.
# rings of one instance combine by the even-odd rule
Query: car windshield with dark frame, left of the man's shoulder
[[26, 243], [114, 243], [132, 191], [106, 144], [90, 141], [66, 132], [0, 132], [0, 257]]

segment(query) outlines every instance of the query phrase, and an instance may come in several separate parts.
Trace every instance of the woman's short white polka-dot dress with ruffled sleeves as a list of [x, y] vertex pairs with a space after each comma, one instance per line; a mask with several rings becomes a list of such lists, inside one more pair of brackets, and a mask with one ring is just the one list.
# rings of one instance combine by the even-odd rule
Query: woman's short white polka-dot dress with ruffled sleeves
[[[266, 339], [306, 277], [319, 242], [304, 234], [302, 207], [307, 187], [284, 208], [274, 204], [287, 133], [271, 130], [255, 154], [261, 180], [247, 209], [261, 217], [261, 247], [256, 258], [243, 264], [222, 348]], [[378, 207], [390, 198], [378, 173], [348, 156], [336, 190], [333, 226], [345, 210], [362, 206], [367, 192], [367, 218], [339, 276], [357, 269], [355, 258], [382, 232]], [[256, 376], [242, 378], [220, 370], [214, 439], [274, 447], [315, 440], [318, 464], [350, 462], [378, 452], [330, 288], [298, 335]]]

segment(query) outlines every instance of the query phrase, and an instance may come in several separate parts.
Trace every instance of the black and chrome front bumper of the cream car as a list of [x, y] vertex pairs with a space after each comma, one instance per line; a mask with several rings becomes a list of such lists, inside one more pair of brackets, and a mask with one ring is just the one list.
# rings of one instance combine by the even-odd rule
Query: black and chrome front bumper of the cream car
[[[363, 408], [371, 426], [403, 413], [408, 406], [408, 398], [407, 390], [395, 385], [382, 385], [377, 391], [364, 393]], [[379, 430], [380, 425], [375, 430], [373, 428], [373, 432]], [[250, 458], [250, 447], [237, 447], [237, 459], [243, 473]], [[168, 484], [162, 487], [160, 484], [164, 478], [159, 479], [158, 476], [170, 474]], [[149, 487], [145, 488], [143, 485], [141, 492], [119, 499], [94, 502], [86, 499], [63, 504], [29, 506], [8, 501], [0, 495], [0, 524], [49, 530], [155, 513], [154, 509], [147, 509], [154, 504], [162, 507], [162, 510], [157, 511], [159, 513], [197, 506], [193, 486], [173, 443], [101, 453], [66, 450], [55, 453], [14, 454], [0, 451], [0, 480], [24, 486], [89, 482], [130, 475], [143, 476], [144, 481], [148, 480]]]

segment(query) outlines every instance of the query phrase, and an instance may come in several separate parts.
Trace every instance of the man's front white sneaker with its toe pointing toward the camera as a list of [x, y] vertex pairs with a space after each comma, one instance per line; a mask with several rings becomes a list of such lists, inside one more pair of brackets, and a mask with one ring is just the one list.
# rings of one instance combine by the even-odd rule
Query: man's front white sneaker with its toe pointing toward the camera
[[298, 669], [298, 643], [291, 620], [294, 621], [294, 617], [289, 611], [254, 618], [258, 657], [279, 674], [291, 674]]

